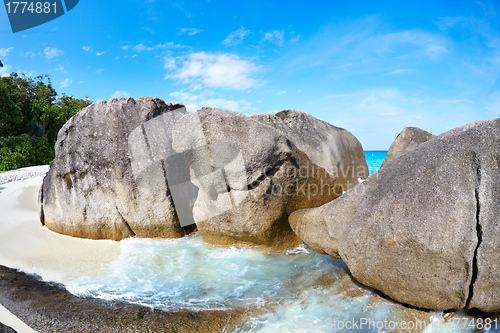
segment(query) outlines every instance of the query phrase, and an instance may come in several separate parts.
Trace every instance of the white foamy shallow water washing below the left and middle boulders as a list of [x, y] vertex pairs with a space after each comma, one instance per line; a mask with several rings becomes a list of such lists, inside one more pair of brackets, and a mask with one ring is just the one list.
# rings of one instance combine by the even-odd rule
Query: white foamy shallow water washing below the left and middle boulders
[[269, 254], [214, 247], [199, 235], [178, 240], [131, 238], [121, 242], [121, 254], [109, 274], [82, 277], [67, 288], [80, 296], [168, 308], [261, 306], [267, 298], [285, 297], [286, 284], [317, 270], [322, 262], [335, 264], [328, 257], [310, 255], [304, 246]]

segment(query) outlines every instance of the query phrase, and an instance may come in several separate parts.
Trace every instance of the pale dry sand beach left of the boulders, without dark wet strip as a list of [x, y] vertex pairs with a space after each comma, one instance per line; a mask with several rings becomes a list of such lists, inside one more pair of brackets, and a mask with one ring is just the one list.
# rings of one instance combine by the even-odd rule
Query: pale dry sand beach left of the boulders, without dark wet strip
[[[117, 242], [59, 235], [39, 222], [37, 196], [48, 166], [0, 174], [0, 265], [36, 273], [43, 279], [67, 282], [98, 274], [117, 258]], [[0, 322], [18, 332], [34, 332], [3, 306]]]

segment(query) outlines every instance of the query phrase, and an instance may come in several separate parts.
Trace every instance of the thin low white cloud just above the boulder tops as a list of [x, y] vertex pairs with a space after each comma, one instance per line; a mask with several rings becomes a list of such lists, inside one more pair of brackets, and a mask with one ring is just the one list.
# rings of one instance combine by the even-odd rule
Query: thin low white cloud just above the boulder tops
[[176, 98], [176, 101], [182, 102], [189, 111], [193, 112], [204, 106], [226, 109], [235, 112], [252, 109], [252, 105], [245, 100], [233, 101], [224, 98], [213, 98], [211, 97], [213, 95], [214, 93], [212, 91], [204, 91], [200, 94], [176, 91], [170, 94], [170, 96]]

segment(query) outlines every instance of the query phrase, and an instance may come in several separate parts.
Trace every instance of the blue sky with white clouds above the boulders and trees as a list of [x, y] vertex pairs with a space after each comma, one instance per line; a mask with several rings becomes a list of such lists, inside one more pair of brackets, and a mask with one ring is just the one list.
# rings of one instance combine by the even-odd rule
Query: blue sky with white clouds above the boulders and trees
[[500, 116], [498, 1], [80, 0], [13, 34], [0, 59], [59, 93], [153, 96], [195, 111], [297, 109], [388, 149]]

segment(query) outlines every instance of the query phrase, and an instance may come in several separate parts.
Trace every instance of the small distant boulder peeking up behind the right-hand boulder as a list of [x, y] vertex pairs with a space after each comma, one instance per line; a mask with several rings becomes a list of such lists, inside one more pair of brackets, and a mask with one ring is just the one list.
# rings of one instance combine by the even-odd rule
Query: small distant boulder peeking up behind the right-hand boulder
[[393, 159], [398, 158], [404, 153], [409, 152], [419, 144], [432, 139], [433, 137], [433, 134], [426, 132], [418, 127], [403, 128], [401, 133], [398, 134], [394, 142], [391, 144], [391, 147], [387, 151], [382, 166], [386, 165]]

